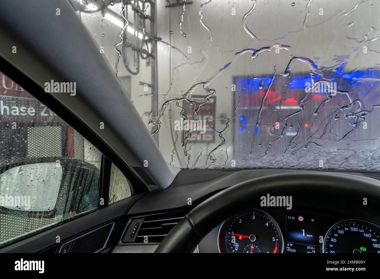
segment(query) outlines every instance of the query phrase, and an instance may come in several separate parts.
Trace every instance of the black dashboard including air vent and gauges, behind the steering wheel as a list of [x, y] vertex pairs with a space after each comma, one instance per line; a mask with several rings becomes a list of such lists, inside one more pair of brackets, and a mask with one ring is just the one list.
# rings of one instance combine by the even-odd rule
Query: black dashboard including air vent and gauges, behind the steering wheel
[[[268, 177], [273, 170], [182, 170], [173, 185], [164, 191], [143, 195], [128, 211], [127, 224], [113, 252], [152, 252], [180, 219], [209, 197], [238, 183], [253, 178]], [[275, 170], [276, 175], [300, 173], [314, 175], [315, 171]], [[202, 174], [202, 175], [201, 175]], [[328, 178], [328, 184], [337, 183]], [[292, 197], [292, 206], [261, 205], [257, 199], [247, 199], [250, 208], [223, 211], [218, 203], [210, 206], [214, 229], [207, 233], [196, 247], [199, 253], [380, 253], [380, 215], [377, 189], [361, 188], [357, 180], [380, 181], [377, 173], [335, 173], [348, 179], [347, 187], [317, 191], [310, 185], [289, 186], [272, 192]], [[279, 185], [281, 181], [279, 181]], [[360, 184], [360, 183], [359, 183]], [[372, 186], [371, 186], [372, 187]], [[247, 187], [250, 189], [250, 187]], [[322, 188], [321, 188], [322, 189]], [[225, 203], [240, 207], [237, 196], [229, 193]], [[239, 196], [242, 193], [239, 194]], [[191, 202], [189, 203], [189, 197]], [[268, 200], [268, 199], [267, 199]], [[365, 202], [364, 202], [365, 201]], [[234, 205], [236, 203], [236, 206]], [[223, 203], [224, 204], [224, 203]], [[290, 209], [287, 209], [290, 208]], [[234, 212], [232, 212], [234, 211]], [[222, 215], [222, 216], [221, 216]], [[229, 216], [233, 216], [228, 218]], [[222, 217], [222, 218], [220, 218]], [[225, 219], [223, 221], [224, 218]], [[217, 224], [217, 222], [220, 222]], [[204, 224], [206, 226], [206, 224]], [[147, 236], [146, 242], [145, 236]]]

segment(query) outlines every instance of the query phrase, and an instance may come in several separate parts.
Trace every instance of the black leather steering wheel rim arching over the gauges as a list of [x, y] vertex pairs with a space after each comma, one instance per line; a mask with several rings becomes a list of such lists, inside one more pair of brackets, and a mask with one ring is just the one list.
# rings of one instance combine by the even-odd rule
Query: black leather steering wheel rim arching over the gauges
[[[261, 208], [267, 194], [291, 196], [294, 206], [334, 209], [344, 214], [378, 215], [380, 182], [363, 175], [294, 171], [245, 181], [209, 197], [193, 208], [163, 239], [155, 253], [193, 252], [196, 245], [225, 219]], [[366, 198], [368, 205], [363, 205]], [[378, 217], [377, 217], [378, 218]]]

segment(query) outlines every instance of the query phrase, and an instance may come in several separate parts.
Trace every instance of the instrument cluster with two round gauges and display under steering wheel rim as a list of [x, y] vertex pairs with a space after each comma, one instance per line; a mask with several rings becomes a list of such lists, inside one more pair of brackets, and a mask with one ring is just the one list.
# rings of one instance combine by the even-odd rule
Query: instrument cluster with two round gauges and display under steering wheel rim
[[380, 227], [335, 212], [253, 208], [225, 220], [198, 245], [220, 253], [380, 253]]

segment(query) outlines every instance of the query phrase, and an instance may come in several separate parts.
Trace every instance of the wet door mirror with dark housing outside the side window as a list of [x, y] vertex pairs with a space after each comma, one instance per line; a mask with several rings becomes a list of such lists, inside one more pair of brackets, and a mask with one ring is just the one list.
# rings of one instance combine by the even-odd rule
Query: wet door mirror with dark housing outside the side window
[[0, 212], [24, 216], [38, 212], [44, 218], [67, 219], [97, 208], [99, 175], [99, 169], [74, 158], [0, 167]]

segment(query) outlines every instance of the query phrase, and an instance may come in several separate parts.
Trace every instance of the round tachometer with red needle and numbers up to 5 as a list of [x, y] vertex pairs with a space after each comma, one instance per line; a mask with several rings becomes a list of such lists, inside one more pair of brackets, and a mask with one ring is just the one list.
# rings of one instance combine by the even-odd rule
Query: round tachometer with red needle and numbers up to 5
[[253, 209], [223, 222], [219, 250], [228, 253], [282, 253], [279, 226], [269, 214]]

